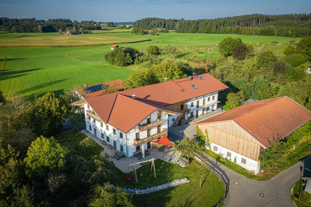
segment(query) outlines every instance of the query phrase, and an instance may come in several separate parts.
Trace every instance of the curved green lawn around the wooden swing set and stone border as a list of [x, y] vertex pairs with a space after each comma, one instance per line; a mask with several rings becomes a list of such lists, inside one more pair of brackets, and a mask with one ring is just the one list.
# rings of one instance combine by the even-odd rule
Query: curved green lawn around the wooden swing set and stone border
[[[200, 165], [197, 161], [192, 161], [187, 167], [182, 168], [177, 164], [167, 163], [162, 160], [155, 160], [156, 178], [153, 170], [146, 172], [143, 168], [143, 176], [140, 176], [140, 169], [137, 169], [137, 183], [135, 175], [133, 180], [125, 180], [127, 173], [117, 171], [120, 187], [130, 187], [144, 189], [155, 185], [161, 185], [176, 179], [188, 177], [190, 182], [178, 186], [170, 187], [161, 191], [149, 194], [134, 195], [133, 202], [137, 206], [214, 206], [225, 193], [224, 186], [219, 179], [211, 174], [199, 188], [200, 178], [197, 176], [197, 168]], [[149, 165], [151, 168], [151, 164]], [[150, 170], [150, 169], [149, 169]]]

